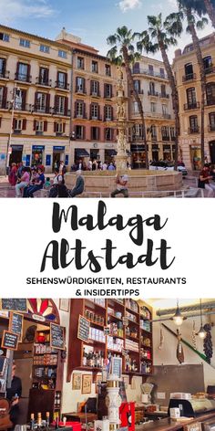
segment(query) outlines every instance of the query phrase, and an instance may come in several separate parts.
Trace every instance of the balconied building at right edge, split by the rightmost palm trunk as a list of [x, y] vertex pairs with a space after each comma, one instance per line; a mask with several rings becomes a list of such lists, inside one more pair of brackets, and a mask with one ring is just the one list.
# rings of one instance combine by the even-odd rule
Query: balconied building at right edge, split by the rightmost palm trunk
[[[207, 87], [205, 156], [215, 163], [215, 33], [200, 39]], [[200, 169], [200, 71], [193, 45], [177, 49], [173, 69], [179, 89], [180, 150], [189, 169]]]

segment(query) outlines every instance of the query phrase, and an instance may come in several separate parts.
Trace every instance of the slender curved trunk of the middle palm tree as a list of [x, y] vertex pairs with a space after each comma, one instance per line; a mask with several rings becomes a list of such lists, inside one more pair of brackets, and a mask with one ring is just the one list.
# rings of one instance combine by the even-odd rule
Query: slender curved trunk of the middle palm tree
[[161, 35], [158, 37], [159, 40], [159, 49], [161, 52], [161, 56], [164, 62], [164, 66], [166, 68], [169, 85], [171, 88], [171, 98], [172, 98], [172, 106], [175, 114], [175, 129], [176, 129], [176, 141], [175, 141], [175, 157], [174, 157], [174, 169], [177, 171], [178, 169], [178, 161], [179, 161], [179, 134], [180, 134], [180, 125], [179, 125], [179, 93], [176, 85], [176, 80], [172, 72], [172, 68], [169, 63], [169, 58], [166, 53], [166, 49], [163, 44], [163, 39]]

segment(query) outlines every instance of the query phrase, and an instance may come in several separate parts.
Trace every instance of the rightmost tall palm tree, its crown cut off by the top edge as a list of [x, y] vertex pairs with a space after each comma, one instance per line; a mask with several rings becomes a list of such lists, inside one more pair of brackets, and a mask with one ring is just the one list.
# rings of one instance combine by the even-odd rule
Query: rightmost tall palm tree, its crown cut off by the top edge
[[201, 152], [201, 165], [204, 164], [204, 138], [205, 138], [205, 95], [206, 95], [206, 74], [204, 68], [204, 61], [200, 50], [200, 40], [197, 36], [197, 29], [202, 29], [205, 24], [208, 24], [208, 19], [202, 17], [197, 19], [197, 15], [202, 15], [202, 1], [201, 0], [177, 0], [180, 12], [187, 19], [187, 32], [192, 37], [192, 43], [196, 52], [197, 63], [200, 71], [200, 86], [201, 86], [201, 101], [200, 101], [200, 152]]

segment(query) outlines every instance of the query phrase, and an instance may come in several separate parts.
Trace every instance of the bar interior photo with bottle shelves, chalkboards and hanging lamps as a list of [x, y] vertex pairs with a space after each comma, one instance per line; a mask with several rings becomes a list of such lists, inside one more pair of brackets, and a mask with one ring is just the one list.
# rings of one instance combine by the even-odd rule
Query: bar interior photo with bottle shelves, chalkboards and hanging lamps
[[0, 300], [0, 431], [215, 430], [215, 300]]

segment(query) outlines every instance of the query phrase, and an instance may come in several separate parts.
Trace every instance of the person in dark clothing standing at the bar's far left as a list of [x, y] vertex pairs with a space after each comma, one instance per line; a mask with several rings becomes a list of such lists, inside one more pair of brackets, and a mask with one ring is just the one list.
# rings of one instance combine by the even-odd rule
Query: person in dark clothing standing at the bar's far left
[[14, 426], [17, 425], [19, 415], [19, 398], [22, 395], [22, 381], [15, 375], [15, 369], [16, 366], [13, 364], [11, 387], [7, 388], [6, 391], [6, 398], [11, 402], [10, 420], [13, 422]]

